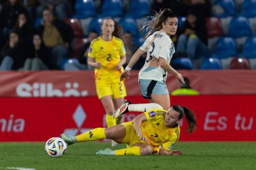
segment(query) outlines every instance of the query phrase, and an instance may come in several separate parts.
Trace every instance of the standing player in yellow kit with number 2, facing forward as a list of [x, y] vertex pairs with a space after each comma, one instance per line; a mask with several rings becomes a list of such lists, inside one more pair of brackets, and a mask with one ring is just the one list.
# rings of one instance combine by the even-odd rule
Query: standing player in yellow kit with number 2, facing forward
[[95, 68], [97, 95], [106, 112], [106, 124], [110, 127], [117, 124], [113, 114], [126, 96], [125, 85], [119, 80], [126, 52], [121, 40], [121, 26], [113, 18], [106, 17], [101, 30], [102, 35], [91, 42], [88, 65]]

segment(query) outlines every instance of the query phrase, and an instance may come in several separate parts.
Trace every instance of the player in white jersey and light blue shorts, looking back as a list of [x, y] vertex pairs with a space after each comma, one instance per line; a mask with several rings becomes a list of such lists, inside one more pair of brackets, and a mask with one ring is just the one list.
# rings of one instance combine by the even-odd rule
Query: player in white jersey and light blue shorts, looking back
[[116, 111], [114, 118], [119, 117], [124, 112], [143, 112], [151, 108], [170, 108], [170, 95], [166, 87], [167, 73], [175, 75], [181, 82], [184, 82], [181, 73], [178, 73], [170, 66], [172, 54], [174, 54], [174, 44], [170, 36], [176, 34], [178, 28], [178, 18], [171, 9], [164, 9], [156, 13], [152, 20], [144, 24], [143, 29], [149, 30], [146, 34], [146, 41], [133, 54], [125, 71], [121, 74], [120, 80], [129, 79], [129, 71], [135, 65], [139, 57], [147, 52], [146, 62], [139, 71], [139, 86], [143, 97], [150, 99], [150, 104], [133, 105], [125, 101]]

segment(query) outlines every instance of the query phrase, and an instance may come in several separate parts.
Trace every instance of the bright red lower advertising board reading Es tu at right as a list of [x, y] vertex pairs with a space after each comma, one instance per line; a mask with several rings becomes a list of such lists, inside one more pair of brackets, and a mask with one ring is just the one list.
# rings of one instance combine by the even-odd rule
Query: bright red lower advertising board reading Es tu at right
[[[142, 97], [127, 97], [148, 103]], [[256, 95], [171, 97], [197, 114], [197, 130], [189, 135], [181, 123], [183, 141], [256, 141]], [[0, 98], [0, 141], [46, 141], [52, 136], [79, 134], [103, 127], [104, 108], [97, 97]], [[139, 113], [125, 114], [130, 121]]]

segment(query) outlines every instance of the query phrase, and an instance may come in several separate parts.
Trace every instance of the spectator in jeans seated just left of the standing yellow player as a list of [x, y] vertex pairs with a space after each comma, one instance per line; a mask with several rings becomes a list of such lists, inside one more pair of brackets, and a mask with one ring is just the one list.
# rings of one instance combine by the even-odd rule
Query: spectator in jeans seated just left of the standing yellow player
[[79, 71], [79, 70], [86, 70], [92, 69], [92, 67], [88, 66], [87, 64], [87, 55], [90, 44], [92, 40], [98, 37], [98, 33], [94, 30], [89, 33], [88, 42], [82, 46], [78, 60], [76, 58], [71, 58], [68, 62], [65, 63], [64, 69], [65, 71]]

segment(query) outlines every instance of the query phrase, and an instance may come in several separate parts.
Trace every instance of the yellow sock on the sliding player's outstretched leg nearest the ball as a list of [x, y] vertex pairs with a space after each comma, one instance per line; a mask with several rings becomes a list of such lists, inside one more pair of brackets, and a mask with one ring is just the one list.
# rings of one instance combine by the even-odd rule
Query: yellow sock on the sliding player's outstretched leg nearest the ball
[[105, 128], [95, 128], [83, 134], [75, 136], [77, 142], [94, 141], [102, 138], [106, 138]]

